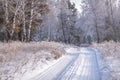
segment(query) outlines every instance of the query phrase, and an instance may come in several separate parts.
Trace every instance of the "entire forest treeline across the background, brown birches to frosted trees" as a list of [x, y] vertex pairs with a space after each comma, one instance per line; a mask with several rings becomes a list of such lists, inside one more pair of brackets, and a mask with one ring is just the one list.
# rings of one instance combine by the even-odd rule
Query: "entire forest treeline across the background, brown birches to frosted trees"
[[0, 0], [0, 40], [79, 44], [120, 40], [119, 0]]

